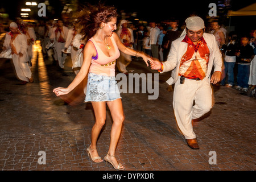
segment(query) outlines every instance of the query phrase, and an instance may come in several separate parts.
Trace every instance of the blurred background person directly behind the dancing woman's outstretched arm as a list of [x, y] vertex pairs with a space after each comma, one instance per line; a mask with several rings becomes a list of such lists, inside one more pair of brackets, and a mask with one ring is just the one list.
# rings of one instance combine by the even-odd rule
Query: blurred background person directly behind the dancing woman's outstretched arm
[[[121, 42], [130, 49], [133, 49], [134, 36], [133, 30], [127, 27], [127, 20], [123, 19], [120, 23], [117, 35], [121, 39]], [[131, 56], [121, 52], [120, 57], [117, 59], [117, 68], [120, 72], [128, 74], [126, 67], [131, 63]]]

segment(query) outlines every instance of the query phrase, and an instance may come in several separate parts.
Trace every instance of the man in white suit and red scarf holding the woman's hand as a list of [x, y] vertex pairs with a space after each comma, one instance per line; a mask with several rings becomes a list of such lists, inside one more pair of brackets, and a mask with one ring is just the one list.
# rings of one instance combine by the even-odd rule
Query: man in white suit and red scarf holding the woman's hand
[[[174, 87], [174, 114], [181, 133], [192, 149], [199, 149], [193, 132], [193, 119], [212, 108], [212, 88], [221, 79], [221, 52], [214, 35], [205, 33], [204, 20], [191, 16], [180, 38], [172, 42], [166, 62], [154, 60], [152, 69], [160, 73], [172, 71], [167, 80]], [[212, 76], [210, 73], [214, 65]]]

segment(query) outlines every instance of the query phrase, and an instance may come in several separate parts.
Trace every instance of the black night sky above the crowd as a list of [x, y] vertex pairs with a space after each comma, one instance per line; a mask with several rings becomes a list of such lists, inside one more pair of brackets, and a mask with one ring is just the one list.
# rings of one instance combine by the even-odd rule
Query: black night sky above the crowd
[[[14, 19], [16, 16], [19, 16], [20, 8], [21, 6], [24, 6], [25, 2], [26, 1], [23, 0], [1, 1], [0, 6], [6, 9], [7, 13], [10, 14], [11, 19]], [[44, 2], [44, 0], [35, 2]], [[60, 13], [63, 9], [63, 5], [61, 5], [58, 0], [49, 0], [49, 2], [54, 3], [52, 5], [56, 8], [56, 14]], [[79, 2], [84, 4], [85, 1], [79, 0]], [[95, 0], [87, 0], [86, 2], [90, 2], [93, 5], [98, 3], [98, 1]], [[160, 22], [160, 20], [176, 18], [179, 19], [180, 22], [184, 22], [184, 20], [193, 12], [197, 13], [202, 18], [205, 18], [210, 10], [208, 7], [209, 3], [214, 2], [217, 4], [218, 0], [154, 1], [154, 3], [146, 0], [105, 0], [102, 2], [105, 2], [106, 5], [114, 5], [118, 11], [124, 10], [126, 13], [137, 12], [137, 18], [141, 20], [156, 20], [156, 22]], [[254, 2], [255, 0], [232, 0], [232, 10], [239, 10]], [[254, 25], [252, 22], [256, 21], [255, 17], [256, 16], [232, 17], [231, 23], [238, 27], [253, 27]], [[228, 19], [226, 19], [226, 23], [227, 22], [229, 22]]]

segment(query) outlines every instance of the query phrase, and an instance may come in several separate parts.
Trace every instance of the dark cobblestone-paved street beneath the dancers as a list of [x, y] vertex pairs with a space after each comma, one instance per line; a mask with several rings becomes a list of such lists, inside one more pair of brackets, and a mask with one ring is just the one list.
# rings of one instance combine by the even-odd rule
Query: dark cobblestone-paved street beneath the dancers
[[[59, 71], [51, 58], [33, 59], [34, 83], [19, 85], [12, 62], [0, 59], [1, 170], [114, 171], [104, 162], [92, 162], [86, 152], [94, 114], [92, 105], [83, 102], [82, 86], [61, 98], [52, 93], [75, 77], [71, 64], [68, 56], [64, 71]], [[127, 69], [146, 76], [158, 73], [136, 60]], [[213, 86], [213, 109], [195, 122], [200, 150], [192, 150], [176, 127], [168, 77], [170, 72], [159, 75], [156, 100], [148, 100], [154, 94], [148, 89], [147, 93], [140, 88], [139, 93], [121, 94], [126, 118], [116, 156], [126, 170], [254, 171], [256, 98], [234, 88]], [[109, 148], [111, 126], [108, 110], [98, 139], [102, 158]]]

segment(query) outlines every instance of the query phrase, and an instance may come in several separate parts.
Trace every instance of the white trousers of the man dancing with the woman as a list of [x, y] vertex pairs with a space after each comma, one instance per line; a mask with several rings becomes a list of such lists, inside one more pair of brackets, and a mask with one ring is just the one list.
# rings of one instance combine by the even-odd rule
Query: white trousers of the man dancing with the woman
[[208, 79], [197, 81], [185, 78], [184, 84], [180, 84], [179, 77], [174, 86], [173, 105], [177, 126], [185, 139], [196, 138], [192, 119], [200, 118], [212, 108], [212, 88]]

